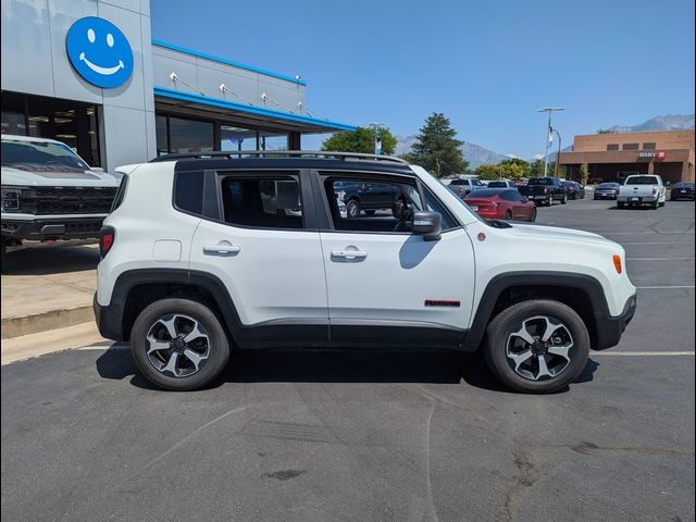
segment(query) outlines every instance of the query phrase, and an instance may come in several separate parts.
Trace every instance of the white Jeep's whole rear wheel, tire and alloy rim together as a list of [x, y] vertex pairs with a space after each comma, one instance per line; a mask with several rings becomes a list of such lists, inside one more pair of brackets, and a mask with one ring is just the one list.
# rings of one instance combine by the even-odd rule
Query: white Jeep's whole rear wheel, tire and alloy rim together
[[229, 359], [229, 343], [215, 314], [188, 299], [148, 306], [130, 331], [138, 369], [158, 386], [190, 390], [209, 384]]

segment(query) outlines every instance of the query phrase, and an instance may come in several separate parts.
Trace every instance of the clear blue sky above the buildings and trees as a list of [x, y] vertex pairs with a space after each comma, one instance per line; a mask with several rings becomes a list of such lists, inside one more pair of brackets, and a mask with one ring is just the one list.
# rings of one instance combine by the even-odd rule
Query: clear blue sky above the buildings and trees
[[152, 37], [308, 83], [334, 121], [543, 152], [545, 105], [575, 134], [694, 112], [694, 2], [152, 0]]

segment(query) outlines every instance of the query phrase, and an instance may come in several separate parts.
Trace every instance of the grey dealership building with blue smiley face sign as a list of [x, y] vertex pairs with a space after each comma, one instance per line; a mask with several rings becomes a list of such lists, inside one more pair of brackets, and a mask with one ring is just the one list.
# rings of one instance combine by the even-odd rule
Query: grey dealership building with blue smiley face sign
[[299, 150], [304, 134], [355, 129], [309, 112], [299, 76], [150, 34], [149, 0], [2, 0], [2, 134], [58, 139], [113, 169], [167, 152]]

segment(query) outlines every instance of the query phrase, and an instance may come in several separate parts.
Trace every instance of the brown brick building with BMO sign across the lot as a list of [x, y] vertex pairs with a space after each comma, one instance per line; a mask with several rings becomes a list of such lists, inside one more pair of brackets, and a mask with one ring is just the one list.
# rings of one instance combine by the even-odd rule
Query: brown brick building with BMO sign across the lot
[[621, 182], [631, 174], [694, 182], [694, 130], [575, 136], [572, 151], [560, 153], [559, 165], [569, 179], [580, 179], [583, 169], [596, 182]]

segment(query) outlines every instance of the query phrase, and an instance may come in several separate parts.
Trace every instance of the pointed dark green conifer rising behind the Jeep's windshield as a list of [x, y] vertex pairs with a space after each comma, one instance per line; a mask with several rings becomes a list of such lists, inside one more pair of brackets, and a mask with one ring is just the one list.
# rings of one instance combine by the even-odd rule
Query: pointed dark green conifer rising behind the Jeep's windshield
[[463, 141], [457, 139], [457, 130], [451, 128], [445, 114], [434, 112], [420, 133], [413, 150], [408, 159], [421, 165], [436, 177], [461, 174], [469, 167], [469, 162], [459, 148]]

